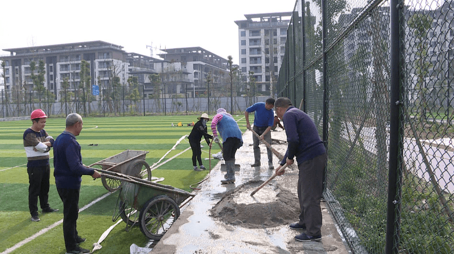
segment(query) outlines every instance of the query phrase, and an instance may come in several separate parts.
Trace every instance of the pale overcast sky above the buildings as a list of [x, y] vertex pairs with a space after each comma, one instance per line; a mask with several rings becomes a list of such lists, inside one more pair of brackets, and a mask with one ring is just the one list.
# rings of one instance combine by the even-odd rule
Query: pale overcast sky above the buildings
[[[24, 0], [2, 1], [0, 49], [105, 41], [150, 55], [197, 47], [238, 64], [238, 26], [245, 14], [291, 12], [296, 0]], [[0, 51], [7, 55], [8, 51]]]

